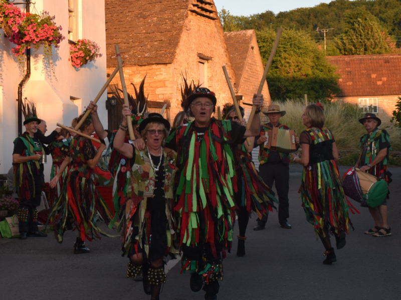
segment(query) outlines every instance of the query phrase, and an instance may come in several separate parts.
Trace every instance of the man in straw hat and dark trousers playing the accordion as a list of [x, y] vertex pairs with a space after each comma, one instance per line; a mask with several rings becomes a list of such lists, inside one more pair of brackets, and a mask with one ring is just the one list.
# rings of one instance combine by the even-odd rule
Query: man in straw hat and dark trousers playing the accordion
[[[279, 198], [279, 224], [282, 228], [291, 229], [288, 223], [289, 213], [289, 200], [288, 190], [290, 181], [290, 155], [286, 152], [269, 150], [264, 147], [266, 141], [266, 131], [273, 129], [273, 127], [282, 127], [290, 129], [287, 125], [280, 123], [280, 117], [285, 115], [285, 110], [280, 110], [280, 106], [276, 104], [269, 105], [267, 111], [263, 112], [269, 117], [269, 122], [261, 126], [260, 137], [255, 139], [255, 144], [260, 146], [259, 149], [259, 175], [263, 178], [266, 185], [270, 188], [273, 187], [273, 182], [276, 185], [276, 191]], [[260, 219], [257, 219], [257, 225], [254, 230], [265, 229], [269, 211]]]

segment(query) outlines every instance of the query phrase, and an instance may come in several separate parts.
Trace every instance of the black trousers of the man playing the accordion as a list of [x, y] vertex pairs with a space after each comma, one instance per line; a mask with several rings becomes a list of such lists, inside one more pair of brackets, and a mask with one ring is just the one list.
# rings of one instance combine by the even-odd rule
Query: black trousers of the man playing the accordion
[[[279, 222], [286, 222], [290, 217], [288, 201], [290, 166], [281, 162], [266, 162], [259, 165], [259, 175], [270, 188], [273, 187], [273, 182], [275, 183], [279, 200]], [[258, 218], [258, 224], [266, 225], [268, 215], [269, 211], [263, 215], [262, 219]]]

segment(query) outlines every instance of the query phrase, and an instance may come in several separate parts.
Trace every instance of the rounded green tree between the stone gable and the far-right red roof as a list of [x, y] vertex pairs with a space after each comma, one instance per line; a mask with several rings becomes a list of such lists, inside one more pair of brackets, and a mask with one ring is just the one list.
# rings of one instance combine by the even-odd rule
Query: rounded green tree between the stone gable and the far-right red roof
[[[264, 63], [267, 62], [276, 37], [274, 29], [257, 31]], [[340, 90], [335, 68], [309, 34], [301, 30], [283, 30], [270, 67], [267, 82], [270, 95], [276, 100], [308, 98], [331, 99]]]

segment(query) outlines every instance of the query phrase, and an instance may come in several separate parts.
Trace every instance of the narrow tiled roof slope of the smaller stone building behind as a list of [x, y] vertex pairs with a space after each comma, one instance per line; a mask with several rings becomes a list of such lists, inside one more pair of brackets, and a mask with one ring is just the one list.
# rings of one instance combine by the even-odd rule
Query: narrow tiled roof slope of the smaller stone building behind
[[254, 30], [224, 32], [231, 64], [233, 65], [238, 84], [241, 82], [241, 78], [245, 70], [253, 34], [255, 34]]

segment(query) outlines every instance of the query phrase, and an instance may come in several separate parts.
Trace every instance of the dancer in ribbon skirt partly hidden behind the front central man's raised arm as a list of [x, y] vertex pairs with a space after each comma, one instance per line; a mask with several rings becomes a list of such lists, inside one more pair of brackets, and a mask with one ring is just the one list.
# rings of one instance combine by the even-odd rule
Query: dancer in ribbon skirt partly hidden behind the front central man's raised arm
[[[244, 108], [239, 106], [241, 115], [243, 117], [242, 125], [245, 126]], [[231, 103], [226, 104], [223, 108], [223, 119], [240, 122], [235, 106]], [[272, 192], [265, 184], [263, 179], [259, 177], [255, 165], [252, 161], [252, 148], [255, 137], [248, 137], [250, 144], [244, 142], [242, 145], [235, 145], [233, 147], [235, 154], [235, 165], [237, 172], [237, 186], [235, 192], [235, 200], [237, 204], [238, 215], [238, 245], [237, 256], [245, 255], [245, 232], [249, 221], [249, 214], [256, 212], [259, 218], [268, 210], [273, 210], [273, 201], [277, 201]], [[238, 189], [237, 189], [238, 188]]]

